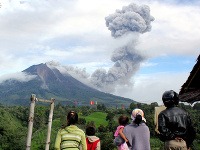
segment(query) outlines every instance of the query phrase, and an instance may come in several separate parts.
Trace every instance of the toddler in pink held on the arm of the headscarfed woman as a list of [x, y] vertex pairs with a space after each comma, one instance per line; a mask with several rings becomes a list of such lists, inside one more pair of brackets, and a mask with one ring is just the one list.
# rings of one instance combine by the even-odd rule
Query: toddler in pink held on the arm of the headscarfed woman
[[129, 122], [129, 119], [127, 116], [120, 116], [118, 118], [119, 126], [117, 127], [114, 133], [114, 136], [117, 137], [118, 135], [120, 135], [120, 137], [124, 140], [124, 142], [121, 145], [117, 146], [118, 150], [129, 150], [128, 145], [127, 145], [128, 139], [123, 134], [124, 127], [128, 124], [128, 122]]

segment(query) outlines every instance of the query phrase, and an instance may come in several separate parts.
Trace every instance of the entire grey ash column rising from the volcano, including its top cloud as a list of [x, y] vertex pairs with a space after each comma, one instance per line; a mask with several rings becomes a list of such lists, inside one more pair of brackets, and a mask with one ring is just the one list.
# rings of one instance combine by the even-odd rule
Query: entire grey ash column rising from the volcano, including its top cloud
[[[116, 10], [114, 14], [110, 14], [105, 20], [112, 37], [123, 39], [149, 32], [154, 17], [150, 15], [148, 6], [137, 6], [132, 3], [124, 6], [122, 10]], [[108, 71], [97, 69], [91, 75], [91, 82], [94, 87], [104, 92], [113, 92], [116, 85], [129, 84], [141, 62], [146, 59], [135, 49], [137, 40], [138, 36], [133, 36], [124, 45], [114, 50], [111, 56], [114, 65]]]

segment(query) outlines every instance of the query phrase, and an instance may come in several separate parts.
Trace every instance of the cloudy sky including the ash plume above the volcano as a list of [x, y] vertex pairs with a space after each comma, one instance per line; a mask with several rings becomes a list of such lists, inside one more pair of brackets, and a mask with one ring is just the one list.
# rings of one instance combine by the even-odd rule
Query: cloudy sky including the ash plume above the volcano
[[100, 91], [162, 104], [200, 54], [198, 0], [0, 0], [0, 83], [40, 63]]

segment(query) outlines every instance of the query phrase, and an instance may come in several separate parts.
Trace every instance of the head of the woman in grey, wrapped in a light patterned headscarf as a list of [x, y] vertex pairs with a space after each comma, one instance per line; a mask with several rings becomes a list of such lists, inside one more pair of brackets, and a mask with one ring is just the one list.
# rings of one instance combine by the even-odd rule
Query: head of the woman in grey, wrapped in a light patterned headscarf
[[131, 119], [137, 125], [139, 125], [142, 121], [146, 122], [146, 119], [144, 118], [144, 112], [138, 108], [136, 108], [132, 111]]

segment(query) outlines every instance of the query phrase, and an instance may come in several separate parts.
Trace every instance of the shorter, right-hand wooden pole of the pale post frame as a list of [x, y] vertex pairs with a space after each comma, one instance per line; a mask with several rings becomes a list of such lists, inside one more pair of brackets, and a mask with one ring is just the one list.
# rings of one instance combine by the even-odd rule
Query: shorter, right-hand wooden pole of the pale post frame
[[53, 118], [53, 109], [54, 109], [54, 99], [51, 99], [45, 150], [49, 150], [49, 145], [50, 145], [51, 125], [52, 125], [52, 118]]

